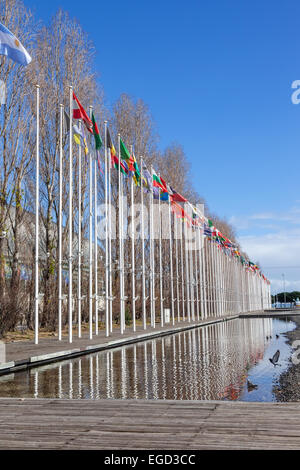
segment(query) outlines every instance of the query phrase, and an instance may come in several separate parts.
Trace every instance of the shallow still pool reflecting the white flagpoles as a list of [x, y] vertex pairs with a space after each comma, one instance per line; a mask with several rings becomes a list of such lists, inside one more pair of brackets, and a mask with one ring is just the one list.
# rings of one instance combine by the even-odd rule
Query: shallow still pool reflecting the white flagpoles
[[2, 376], [0, 396], [276, 401], [292, 353], [283, 333], [295, 327], [289, 318], [218, 323]]

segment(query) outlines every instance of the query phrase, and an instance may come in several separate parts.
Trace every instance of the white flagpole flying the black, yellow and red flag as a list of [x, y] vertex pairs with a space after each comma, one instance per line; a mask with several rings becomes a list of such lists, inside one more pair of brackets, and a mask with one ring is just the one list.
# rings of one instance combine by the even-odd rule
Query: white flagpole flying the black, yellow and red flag
[[109, 207], [107, 203], [108, 198], [108, 184], [107, 184], [107, 121], [104, 121], [104, 152], [105, 152], [105, 335], [109, 336]]

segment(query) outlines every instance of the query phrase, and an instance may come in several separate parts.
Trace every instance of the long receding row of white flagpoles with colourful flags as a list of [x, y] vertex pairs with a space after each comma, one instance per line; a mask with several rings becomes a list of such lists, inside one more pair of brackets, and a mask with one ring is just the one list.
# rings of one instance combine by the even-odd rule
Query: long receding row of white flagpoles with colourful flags
[[[68, 244], [68, 325], [69, 342], [73, 341], [73, 139], [78, 145], [78, 278], [77, 278], [77, 323], [78, 337], [82, 336], [81, 321], [81, 270], [82, 270], [82, 239], [81, 239], [81, 158], [82, 151], [89, 155], [89, 338], [93, 334], [99, 333], [99, 291], [98, 291], [98, 233], [97, 233], [97, 164], [99, 161], [99, 151], [102, 140], [99, 134], [95, 117], [90, 107], [89, 116], [76, 97], [73, 88], [69, 88], [69, 112], [68, 116], [64, 106], [60, 105], [60, 163], [59, 163], [59, 265], [58, 265], [58, 338], [62, 340], [63, 329], [63, 290], [62, 290], [62, 269], [63, 269], [63, 247], [62, 247], [62, 224], [63, 224], [63, 127], [67, 125], [69, 131], [69, 244]], [[36, 125], [37, 125], [37, 145], [36, 145], [36, 208], [35, 208], [35, 343], [39, 341], [39, 103], [40, 87], [36, 88]], [[75, 125], [74, 122], [78, 125]], [[85, 130], [87, 129], [95, 139], [95, 158], [92, 152], [87, 151], [87, 140]], [[125, 325], [125, 272], [128, 267], [124, 263], [124, 198], [123, 198], [123, 176], [131, 175], [130, 196], [131, 196], [131, 318], [133, 331], [136, 331], [136, 301], [141, 297], [142, 325], [147, 328], [147, 301], [150, 299], [150, 324], [155, 328], [157, 321], [157, 281], [156, 275], [159, 272], [159, 317], [160, 324], [165, 322], [165, 303], [163, 288], [163, 257], [162, 240], [166, 238], [163, 234], [162, 213], [167, 214], [169, 240], [169, 289], [171, 323], [175, 321], [188, 320], [195, 321], [209, 316], [222, 316], [225, 314], [240, 313], [240, 311], [258, 310], [270, 305], [270, 283], [260, 272], [259, 268], [250, 261], [245, 260], [237, 251], [234, 244], [224, 237], [210, 220], [204, 217], [198, 209], [192, 206], [183, 196], [176, 192], [163, 178], [158, 175], [153, 168], [148, 171], [143, 158], [141, 158], [140, 168], [134, 157], [133, 149], [129, 152], [125, 144], [118, 135], [118, 151], [116, 152], [107, 122], [104, 123], [104, 204], [105, 204], [105, 260], [104, 260], [104, 303], [105, 303], [105, 333], [109, 336], [113, 331], [113, 279], [112, 266], [117, 264], [119, 271], [119, 293], [120, 293], [120, 332], [124, 333]], [[110, 155], [109, 155], [110, 153]], [[110, 163], [109, 164], [109, 158]], [[112, 164], [118, 170], [118, 260], [112, 259]], [[141, 200], [141, 269], [135, 266], [135, 225], [134, 225], [134, 185], [140, 188]], [[94, 200], [93, 200], [94, 193]], [[150, 234], [149, 252], [145, 250], [144, 234], [145, 216], [144, 202], [149, 199], [150, 206]], [[158, 200], [158, 204], [154, 204]], [[166, 201], [166, 204], [162, 202]], [[184, 203], [190, 208], [190, 213], [180, 205]], [[154, 211], [159, 213], [158, 237], [155, 236], [157, 226], [154, 224]], [[167, 211], [166, 211], [167, 208]], [[162, 210], [163, 209], [163, 210]], [[94, 222], [94, 233], [93, 233]], [[174, 230], [173, 230], [174, 227]], [[93, 243], [94, 238], [94, 243]], [[155, 266], [155, 239], [158, 238], [158, 266]], [[194, 240], [193, 249], [189, 248], [190, 239]], [[180, 243], [179, 243], [180, 242]], [[93, 251], [94, 248], [94, 251]], [[94, 256], [93, 256], [94, 255]], [[149, 273], [146, 273], [146, 256], [149, 256]], [[175, 256], [174, 256], [175, 255]], [[174, 259], [175, 258], [175, 259]], [[140, 296], [137, 296], [136, 278], [139, 273]], [[148, 282], [147, 282], [148, 280]], [[94, 293], [93, 293], [94, 282]], [[181, 286], [180, 286], [181, 284]], [[146, 292], [148, 287], [148, 296]], [[229, 294], [232, 298], [229, 298]], [[226, 297], [227, 296], [227, 297]], [[102, 296], [103, 297], [103, 296]], [[93, 315], [93, 306], [95, 314]], [[95, 323], [95, 329], [93, 328]]]

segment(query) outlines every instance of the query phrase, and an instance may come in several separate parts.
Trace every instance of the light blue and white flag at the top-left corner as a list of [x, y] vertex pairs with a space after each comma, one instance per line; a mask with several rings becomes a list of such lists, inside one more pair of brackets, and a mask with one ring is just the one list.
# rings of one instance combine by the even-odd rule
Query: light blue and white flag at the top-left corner
[[31, 57], [20, 41], [0, 23], [0, 55], [6, 55], [20, 65], [28, 65]]

